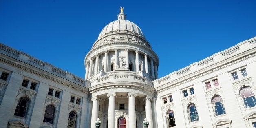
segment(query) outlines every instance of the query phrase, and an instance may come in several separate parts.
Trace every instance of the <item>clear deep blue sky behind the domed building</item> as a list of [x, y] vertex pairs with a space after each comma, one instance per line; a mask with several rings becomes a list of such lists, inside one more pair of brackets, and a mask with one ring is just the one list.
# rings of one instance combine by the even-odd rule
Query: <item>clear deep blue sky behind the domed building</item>
[[84, 78], [120, 6], [159, 56], [159, 77], [256, 36], [256, 0], [0, 0], [0, 42]]

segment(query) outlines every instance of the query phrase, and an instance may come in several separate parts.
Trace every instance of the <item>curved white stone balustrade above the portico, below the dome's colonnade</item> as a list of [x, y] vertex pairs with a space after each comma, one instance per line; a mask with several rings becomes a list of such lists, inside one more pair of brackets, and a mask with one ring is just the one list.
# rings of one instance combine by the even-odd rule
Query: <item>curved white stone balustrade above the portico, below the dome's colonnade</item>
[[108, 82], [137, 82], [141, 84], [147, 84], [153, 86], [152, 81], [149, 78], [142, 77], [139, 75], [133, 75], [130, 73], [117, 73], [117, 74], [108, 74], [104, 76], [97, 77], [91, 80], [91, 87], [98, 84], [104, 84]]

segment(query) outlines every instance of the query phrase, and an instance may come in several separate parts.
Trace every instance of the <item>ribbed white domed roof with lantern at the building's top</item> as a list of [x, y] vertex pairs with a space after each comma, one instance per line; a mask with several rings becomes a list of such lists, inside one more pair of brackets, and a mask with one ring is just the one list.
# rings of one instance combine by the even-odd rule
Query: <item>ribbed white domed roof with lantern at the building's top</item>
[[102, 29], [102, 31], [99, 33], [98, 39], [101, 38], [103, 35], [115, 32], [136, 33], [142, 38], [145, 38], [139, 26], [137, 26], [133, 22], [130, 22], [129, 20], [126, 20], [126, 15], [122, 12], [122, 10], [117, 17], [118, 20], [110, 22]]

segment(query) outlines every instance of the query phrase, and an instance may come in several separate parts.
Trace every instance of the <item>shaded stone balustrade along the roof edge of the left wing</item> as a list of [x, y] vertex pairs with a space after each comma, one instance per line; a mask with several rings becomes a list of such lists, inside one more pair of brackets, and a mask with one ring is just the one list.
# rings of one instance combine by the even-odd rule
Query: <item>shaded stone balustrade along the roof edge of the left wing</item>
[[29, 65], [35, 66], [36, 68], [40, 68], [48, 73], [57, 75], [59, 77], [62, 77], [64, 79], [67, 79], [68, 81], [74, 82], [76, 84], [79, 84], [81, 86], [86, 86], [87, 88], [90, 88], [90, 82], [88, 80], [84, 80], [82, 78], [77, 77], [76, 75], [73, 75], [71, 73], [68, 73], [67, 71], [64, 71], [62, 69], [59, 69], [55, 66], [52, 66], [51, 64], [48, 64], [46, 62], [43, 62], [41, 60], [38, 60], [30, 55], [27, 55], [26, 53], [17, 51], [15, 49], [10, 48], [9, 46], [6, 46], [4, 44], [0, 43], [0, 53], [15, 57], [17, 60], [27, 63]]

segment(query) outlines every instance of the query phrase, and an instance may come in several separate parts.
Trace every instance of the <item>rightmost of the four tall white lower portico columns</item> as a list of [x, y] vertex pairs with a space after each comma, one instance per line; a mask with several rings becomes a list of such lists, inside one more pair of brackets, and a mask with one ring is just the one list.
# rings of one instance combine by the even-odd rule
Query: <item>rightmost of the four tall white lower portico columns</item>
[[145, 114], [146, 114], [146, 118], [149, 121], [148, 128], [153, 128], [154, 126], [153, 126], [152, 109], [151, 109], [152, 97], [146, 97], [143, 100], [145, 100]]

